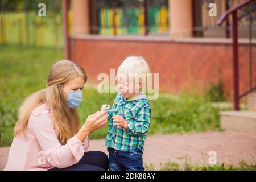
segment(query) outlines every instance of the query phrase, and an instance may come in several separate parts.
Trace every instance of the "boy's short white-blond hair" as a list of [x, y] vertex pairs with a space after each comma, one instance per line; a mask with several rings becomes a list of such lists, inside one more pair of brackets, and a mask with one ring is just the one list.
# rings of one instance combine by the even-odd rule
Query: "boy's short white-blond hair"
[[150, 67], [147, 61], [141, 56], [129, 56], [123, 60], [123, 63], [117, 69], [117, 78], [127, 76], [129, 79], [139, 77], [146, 82], [147, 74], [150, 73]]

